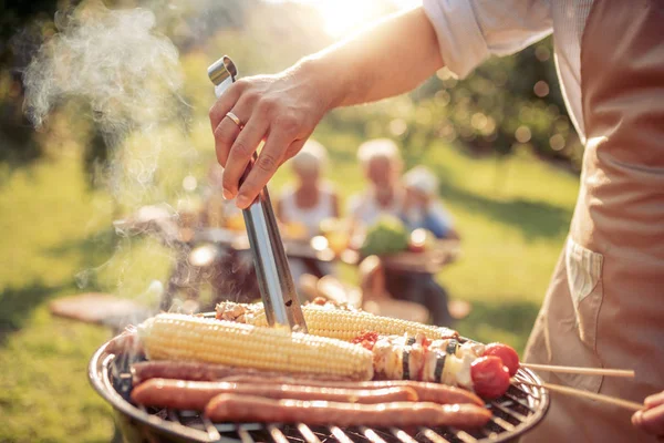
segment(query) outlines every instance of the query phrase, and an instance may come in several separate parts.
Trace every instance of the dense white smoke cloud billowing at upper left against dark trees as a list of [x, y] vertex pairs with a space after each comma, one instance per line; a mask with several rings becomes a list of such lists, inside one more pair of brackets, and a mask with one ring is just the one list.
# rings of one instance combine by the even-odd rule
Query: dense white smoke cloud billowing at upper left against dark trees
[[35, 126], [70, 99], [89, 105], [87, 117], [112, 156], [97, 182], [125, 207], [162, 197], [155, 173], [165, 147], [178, 143], [190, 153], [183, 148], [178, 51], [155, 24], [149, 10], [110, 10], [98, 0], [85, 1], [55, 16], [58, 32], [24, 73], [25, 112]]

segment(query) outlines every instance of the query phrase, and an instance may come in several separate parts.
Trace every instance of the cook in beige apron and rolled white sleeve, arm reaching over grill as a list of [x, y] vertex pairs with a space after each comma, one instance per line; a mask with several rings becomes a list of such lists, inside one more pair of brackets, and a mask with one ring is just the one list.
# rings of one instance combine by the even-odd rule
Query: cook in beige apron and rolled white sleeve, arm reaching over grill
[[225, 195], [247, 207], [334, 107], [411, 91], [444, 65], [464, 78], [490, 55], [552, 33], [585, 152], [570, 235], [526, 360], [635, 369], [633, 380], [541, 375], [644, 406], [630, 423], [619, 408], [557, 395], [522, 440], [654, 441], [649, 433], [664, 435], [664, 395], [649, 396], [664, 390], [663, 22], [661, 0], [424, 0], [283, 72], [226, 91], [210, 110]]

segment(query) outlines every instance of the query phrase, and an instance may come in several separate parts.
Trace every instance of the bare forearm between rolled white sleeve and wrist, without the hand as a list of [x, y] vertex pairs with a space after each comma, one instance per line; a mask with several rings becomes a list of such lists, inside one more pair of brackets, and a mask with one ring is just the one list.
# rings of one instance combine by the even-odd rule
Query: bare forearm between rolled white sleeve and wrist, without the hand
[[294, 69], [311, 76], [328, 109], [411, 91], [443, 66], [436, 33], [422, 7], [392, 16]]

